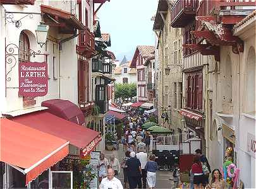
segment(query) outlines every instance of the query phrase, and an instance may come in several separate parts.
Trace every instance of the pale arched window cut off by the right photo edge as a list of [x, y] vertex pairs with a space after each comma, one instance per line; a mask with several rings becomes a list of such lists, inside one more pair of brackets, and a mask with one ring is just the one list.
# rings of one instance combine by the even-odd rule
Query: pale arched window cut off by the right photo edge
[[255, 112], [255, 49], [248, 52], [246, 66], [245, 112]]

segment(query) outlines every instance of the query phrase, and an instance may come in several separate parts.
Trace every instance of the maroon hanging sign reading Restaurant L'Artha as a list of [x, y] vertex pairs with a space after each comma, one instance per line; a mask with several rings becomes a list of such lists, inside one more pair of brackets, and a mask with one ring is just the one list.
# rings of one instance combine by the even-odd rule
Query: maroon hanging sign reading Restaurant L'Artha
[[46, 62], [19, 63], [19, 95], [46, 96], [48, 92], [48, 75]]

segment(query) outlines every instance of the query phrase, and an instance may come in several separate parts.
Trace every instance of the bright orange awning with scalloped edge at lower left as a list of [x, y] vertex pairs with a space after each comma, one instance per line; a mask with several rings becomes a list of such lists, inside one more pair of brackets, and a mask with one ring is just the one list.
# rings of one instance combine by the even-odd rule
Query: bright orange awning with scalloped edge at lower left
[[67, 140], [1, 118], [0, 161], [26, 174], [26, 185], [68, 154]]

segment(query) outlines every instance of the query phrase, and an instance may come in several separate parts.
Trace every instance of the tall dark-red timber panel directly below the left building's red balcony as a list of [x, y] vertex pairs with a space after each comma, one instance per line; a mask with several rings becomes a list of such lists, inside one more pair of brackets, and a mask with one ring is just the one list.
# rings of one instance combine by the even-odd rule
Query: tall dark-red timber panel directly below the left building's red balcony
[[78, 103], [85, 105], [90, 101], [90, 67], [88, 60], [78, 60]]

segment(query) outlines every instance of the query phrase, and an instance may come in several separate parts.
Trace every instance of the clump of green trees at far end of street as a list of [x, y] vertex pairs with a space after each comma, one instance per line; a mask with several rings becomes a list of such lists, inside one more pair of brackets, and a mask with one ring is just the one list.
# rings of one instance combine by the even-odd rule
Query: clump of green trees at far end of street
[[137, 95], [137, 84], [136, 83], [118, 83], [114, 91], [114, 96], [116, 99], [121, 98], [131, 98]]

